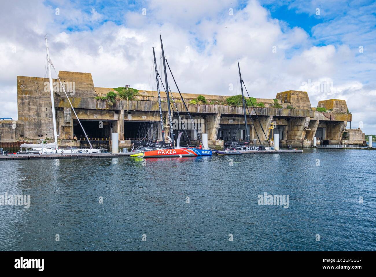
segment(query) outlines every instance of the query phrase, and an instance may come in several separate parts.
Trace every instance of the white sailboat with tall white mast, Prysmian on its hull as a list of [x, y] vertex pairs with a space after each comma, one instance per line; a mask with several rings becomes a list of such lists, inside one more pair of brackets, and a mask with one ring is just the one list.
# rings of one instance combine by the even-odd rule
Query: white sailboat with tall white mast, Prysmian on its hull
[[[102, 148], [102, 147], [96, 147], [93, 148], [88, 136], [86, 135], [85, 130], [82, 127], [82, 124], [80, 122], [80, 119], [78, 118], [76, 111], [74, 110], [72, 103], [67, 95], [67, 92], [65, 91], [65, 86], [62, 85], [59, 75], [55, 70], [55, 67], [53, 66], [53, 63], [50, 59], [50, 54], [49, 54], [49, 48], [48, 48], [48, 43], [47, 43], [47, 35], [45, 36], [45, 41], [46, 41], [46, 49], [47, 49], [47, 61], [48, 61], [48, 74], [49, 74], [49, 79], [50, 79], [50, 93], [51, 93], [51, 106], [52, 106], [52, 121], [53, 121], [53, 134], [54, 134], [54, 139], [55, 142], [52, 143], [39, 143], [39, 144], [21, 144], [20, 151], [18, 154], [78, 154], [78, 153], [101, 153], [106, 151], [107, 149]], [[60, 86], [64, 90], [65, 96], [68, 99], [68, 102], [74, 112], [74, 115], [76, 115], [77, 121], [79, 122], [83, 133], [86, 136], [86, 139], [89, 142], [90, 147], [59, 147], [58, 146], [58, 132], [56, 128], [56, 115], [55, 115], [55, 101], [54, 101], [54, 96], [53, 96], [53, 83], [52, 83], [52, 73], [51, 73], [51, 66], [53, 67], [53, 70], [55, 71], [56, 75], [58, 76], [58, 80], [60, 83]]]

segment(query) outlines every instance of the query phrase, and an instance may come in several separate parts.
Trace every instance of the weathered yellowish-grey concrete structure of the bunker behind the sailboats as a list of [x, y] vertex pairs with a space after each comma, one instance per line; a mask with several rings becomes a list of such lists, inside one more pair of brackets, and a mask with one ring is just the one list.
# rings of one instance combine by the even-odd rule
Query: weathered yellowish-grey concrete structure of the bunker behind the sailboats
[[[111, 128], [113, 128], [114, 132], [119, 133], [120, 140], [124, 140], [124, 121], [159, 121], [159, 113], [152, 112], [158, 111], [157, 92], [139, 91], [139, 96], [136, 96], [136, 100], [117, 100], [111, 105], [108, 101], [97, 100], [95, 97], [105, 95], [109, 91], [114, 91], [114, 89], [94, 87], [90, 73], [61, 71], [59, 72], [59, 77], [65, 84], [69, 99], [79, 118], [83, 120], [111, 121]], [[57, 80], [53, 80], [53, 82], [59, 139], [71, 144], [72, 142], [69, 141], [73, 138], [73, 120], [75, 116], [62, 87], [57, 83]], [[24, 126], [25, 137], [31, 139], [52, 138], [53, 126], [48, 78], [18, 76], [17, 86], [18, 122], [24, 124], [22, 126]], [[170, 135], [169, 125], [166, 124], [166, 122], [168, 122], [168, 109], [167, 103], [165, 102], [165, 93], [162, 92], [161, 95], [163, 101], [162, 110], [165, 120], [165, 136], [167, 137]], [[188, 103], [190, 99], [197, 98], [199, 94], [182, 93], [182, 95]], [[208, 101], [213, 100], [222, 103], [224, 103], [228, 97], [201, 93], [200, 95], [204, 96]], [[173, 96], [177, 99], [176, 105], [177, 109], [182, 113], [182, 119], [188, 119], [185, 114], [185, 107], [182, 103], [179, 103], [179, 93], [173, 92]], [[332, 103], [334, 112], [320, 113], [312, 110], [306, 92], [289, 90], [278, 93], [276, 99], [278, 99], [279, 103], [281, 103], [284, 108], [277, 109], [270, 107], [274, 104], [273, 99], [256, 98], [256, 101], [265, 103], [265, 107], [256, 107], [256, 112], [252, 108], [249, 109], [250, 115], [252, 115], [254, 119], [253, 125], [252, 120], [247, 118], [251, 139], [257, 138], [257, 131], [264, 144], [267, 144], [267, 138], [255, 118], [256, 113], [259, 116], [266, 134], [268, 133], [270, 123], [276, 121], [277, 129], [279, 129], [278, 132], [283, 133], [281, 140], [284, 142], [282, 143], [290, 142], [290, 144], [293, 143], [294, 145], [302, 146], [308, 145], [308, 142], [313, 139], [319, 121], [321, 124], [322, 122], [327, 122], [327, 124], [325, 124], [325, 130], [329, 129], [329, 139], [340, 139], [342, 135], [341, 132], [343, 132], [343, 130], [340, 129], [343, 129], [343, 125], [351, 120], [351, 114], [347, 113], [347, 106], [345, 111], [344, 105], [346, 105], [346, 102], [343, 103], [342, 100], [332, 99], [332, 102], [323, 103], [323, 105], [330, 105]], [[288, 105], [295, 109], [286, 109]], [[203, 119], [202, 132], [208, 133], [208, 139], [211, 141], [209, 145], [213, 144], [218, 146], [221, 144], [221, 142], [216, 141], [220, 125], [244, 124], [243, 107], [209, 104], [187, 104], [187, 107], [194, 119]], [[330, 107], [327, 106], [327, 109], [330, 109]], [[331, 125], [332, 122], [339, 122], [339, 125], [335, 127]], [[328, 124], [330, 126], [326, 128]], [[188, 132], [190, 132], [191, 136], [194, 136], [194, 130], [188, 130]], [[158, 134], [160, 137], [160, 130], [158, 130]], [[243, 133], [238, 132], [237, 135], [241, 137]], [[77, 142], [73, 142], [73, 144], [75, 143]], [[126, 144], [127, 143], [124, 142], [124, 145]]]

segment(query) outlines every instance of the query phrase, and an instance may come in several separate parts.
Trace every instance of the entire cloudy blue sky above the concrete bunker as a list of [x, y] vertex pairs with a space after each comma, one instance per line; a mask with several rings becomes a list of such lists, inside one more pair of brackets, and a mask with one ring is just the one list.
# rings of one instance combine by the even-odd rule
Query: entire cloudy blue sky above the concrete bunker
[[[366, 133], [376, 133], [374, 1], [21, 2], [0, 11], [7, 26], [0, 31], [0, 100], [9, 102], [2, 116], [17, 118], [17, 75], [44, 76], [44, 34], [57, 70], [90, 72], [96, 86], [153, 89], [150, 52], [154, 45], [159, 55], [161, 31], [183, 92], [238, 93], [239, 58], [253, 96], [308, 90], [313, 107], [346, 99], [352, 127], [363, 122]], [[304, 87], [308, 81], [317, 86]], [[331, 91], [318, 90], [322, 83]]]

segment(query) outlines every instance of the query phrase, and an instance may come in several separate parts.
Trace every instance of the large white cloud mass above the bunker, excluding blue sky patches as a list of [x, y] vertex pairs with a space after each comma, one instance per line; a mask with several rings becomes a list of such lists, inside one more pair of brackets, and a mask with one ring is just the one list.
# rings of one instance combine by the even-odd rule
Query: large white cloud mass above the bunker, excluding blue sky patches
[[[0, 23], [10, 25], [0, 34], [0, 102], [12, 104], [2, 116], [17, 117], [17, 75], [44, 77], [44, 34], [49, 34], [56, 70], [90, 72], [94, 85], [100, 87], [130, 84], [155, 89], [152, 47], [156, 47], [159, 63], [161, 31], [166, 57], [182, 92], [239, 93], [239, 58], [251, 96], [274, 98], [277, 92], [301, 89], [308, 80], [333, 82], [329, 93], [309, 92], [312, 106], [328, 98], [346, 99], [353, 121], [363, 121], [366, 132], [374, 132], [367, 127], [374, 125], [376, 118], [375, 101], [369, 96], [374, 93], [370, 76], [376, 70], [372, 56], [367, 60], [348, 44], [314, 46], [302, 28], [291, 29], [271, 18], [257, 1], [250, 1], [242, 10], [236, 9], [237, 2], [227, 0], [165, 1], [165, 5], [145, 3], [146, 15], [141, 9], [126, 12], [123, 25], [111, 18], [101, 25], [105, 18], [101, 11], [92, 8], [85, 13], [68, 1], [60, 5], [59, 16], [55, 6], [38, 4], [21, 9], [23, 5], [7, 4], [15, 12], [7, 15], [3, 10], [0, 14]], [[229, 15], [229, 8], [233, 8], [233, 15]], [[90, 23], [95, 26], [92, 30], [86, 28]], [[314, 31], [316, 35], [330, 32], [325, 26], [331, 23], [321, 24]], [[73, 25], [77, 31], [65, 29]], [[13, 45], [16, 53], [12, 53]], [[230, 83], [234, 91], [229, 91]], [[176, 90], [172, 78], [170, 86]], [[372, 116], [365, 116], [365, 110]]]

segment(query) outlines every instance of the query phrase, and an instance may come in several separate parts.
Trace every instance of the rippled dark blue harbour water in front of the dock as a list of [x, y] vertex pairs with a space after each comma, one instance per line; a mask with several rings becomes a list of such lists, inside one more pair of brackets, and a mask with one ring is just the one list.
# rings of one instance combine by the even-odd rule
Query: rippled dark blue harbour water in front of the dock
[[[374, 251], [375, 157], [0, 161], [0, 195], [30, 195], [29, 208], [0, 205], [0, 250]], [[259, 205], [265, 193], [288, 208]]]

